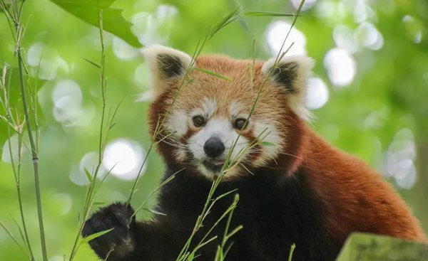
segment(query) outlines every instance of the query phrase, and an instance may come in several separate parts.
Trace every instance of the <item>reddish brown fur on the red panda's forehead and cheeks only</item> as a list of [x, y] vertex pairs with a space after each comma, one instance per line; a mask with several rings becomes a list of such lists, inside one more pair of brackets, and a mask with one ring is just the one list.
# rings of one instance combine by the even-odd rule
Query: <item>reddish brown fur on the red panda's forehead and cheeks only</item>
[[[173, 111], [180, 109], [191, 111], [193, 108], [200, 106], [203, 98], [215, 97], [218, 101], [218, 111], [215, 116], [229, 117], [230, 112], [228, 112], [228, 109], [231, 101], [240, 102], [245, 106], [246, 112], [250, 112], [250, 108], [255, 101], [255, 96], [260, 92], [260, 98], [252, 118], [267, 119], [272, 122], [280, 130], [281, 144], [287, 143], [287, 128], [289, 127], [287, 124], [289, 122], [287, 115], [292, 114], [292, 112], [287, 106], [287, 98], [283, 95], [280, 88], [266, 81], [265, 76], [260, 73], [263, 62], [257, 61], [255, 63], [254, 86], [250, 82], [248, 70], [249, 66], [253, 64], [253, 60], [234, 60], [222, 55], [209, 55], [198, 58], [196, 63], [198, 68], [212, 70], [231, 79], [231, 81], [215, 78], [212, 75], [193, 70], [188, 79], [194, 79], [194, 81], [181, 86], [182, 90], [179, 98], [173, 103], [173, 97], [183, 79], [175, 78], [171, 80], [168, 90], [159, 95], [151, 106], [150, 119], [152, 133], [156, 127], [158, 118], [162, 117], [166, 110]], [[260, 89], [263, 90], [260, 91]], [[172, 103], [173, 105], [170, 106]], [[192, 130], [191, 126], [190, 130]], [[193, 129], [194, 131], [197, 130]], [[250, 131], [251, 129], [248, 128], [242, 135], [253, 140], [255, 137]], [[188, 135], [186, 136], [188, 137]], [[172, 149], [168, 147], [166, 151], [171, 151]]]

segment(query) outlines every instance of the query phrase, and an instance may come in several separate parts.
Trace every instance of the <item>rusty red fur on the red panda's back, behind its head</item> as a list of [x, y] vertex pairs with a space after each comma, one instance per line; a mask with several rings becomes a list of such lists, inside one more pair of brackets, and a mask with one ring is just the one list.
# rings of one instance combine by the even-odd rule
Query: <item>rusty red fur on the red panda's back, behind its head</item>
[[302, 169], [326, 213], [333, 238], [355, 231], [427, 241], [419, 222], [391, 184], [355, 156], [332, 148], [308, 130]]

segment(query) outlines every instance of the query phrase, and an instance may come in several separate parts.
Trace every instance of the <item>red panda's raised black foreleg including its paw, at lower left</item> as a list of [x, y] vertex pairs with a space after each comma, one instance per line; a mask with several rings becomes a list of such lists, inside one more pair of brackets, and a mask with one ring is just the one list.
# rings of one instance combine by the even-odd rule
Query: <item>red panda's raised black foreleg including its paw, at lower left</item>
[[103, 260], [175, 260], [179, 245], [170, 236], [173, 229], [160, 222], [136, 222], [133, 214], [126, 203], [101, 208], [86, 221], [82, 236], [113, 228], [89, 241]]

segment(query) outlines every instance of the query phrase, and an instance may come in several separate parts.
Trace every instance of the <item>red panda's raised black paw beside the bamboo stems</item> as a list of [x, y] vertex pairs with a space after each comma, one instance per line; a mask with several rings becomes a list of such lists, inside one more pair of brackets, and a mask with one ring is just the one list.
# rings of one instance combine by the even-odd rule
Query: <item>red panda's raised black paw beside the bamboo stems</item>
[[136, 245], [133, 235], [136, 223], [134, 213], [133, 208], [126, 203], [113, 203], [101, 208], [86, 220], [82, 236], [86, 238], [113, 228], [108, 233], [89, 241], [89, 245], [103, 260], [127, 257], [131, 255]]

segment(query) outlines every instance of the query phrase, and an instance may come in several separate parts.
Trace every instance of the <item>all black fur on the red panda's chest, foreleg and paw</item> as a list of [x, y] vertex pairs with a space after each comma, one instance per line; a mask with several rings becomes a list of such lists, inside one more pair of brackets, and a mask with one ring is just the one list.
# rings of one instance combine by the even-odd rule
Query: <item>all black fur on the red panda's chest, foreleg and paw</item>
[[[173, 173], [175, 171], [168, 171], [165, 179]], [[157, 210], [166, 215], [156, 215], [156, 220], [152, 222], [133, 221], [129, 230], [123, 227], [118, 216], [125, 220], [131, 216], [133, 211], [130, 206], [116, 203], [102, 208], [88, 220], [85, 232], [95, 233], [112, 227], [118, 229], [92, 240], [91, 247], [103, 258], [111, 245], [116, 245], [108, 260], [175, 260], [202, 211], [210, 186], [211, 181], [203, 177], [180, 173], [161, 188]], [[260, 169], [255, 176], [220, 183], [214, 198], [234, 189], [238, 189], [240, 201], [230, 229], [238, 225], [244, 228], [230, 239], [229, 243], [233, 242], [233, 246], [226, 260], [287, 260], [292, 243], [297, 245], [293, 260], [335, 260], [340, 244], [332, 243], [328, 237], [322, 225], [324, 213], [307, 186], [305, 174], [297, 172], [295, 176], [284, 177], [275, 171]], [[233, 196], [231, 193], [215, 203], [203, 227], [193, 238], [190, 250], [230, 206]], [[224, 229], [223, 222], [212, 231], [208, 238], [217, 235], [218, 240], [198, 250], [198, 260], [214, 259]], [[121, 245], [127, 239], [132, 239], [127, 242], [133, 247]]]

